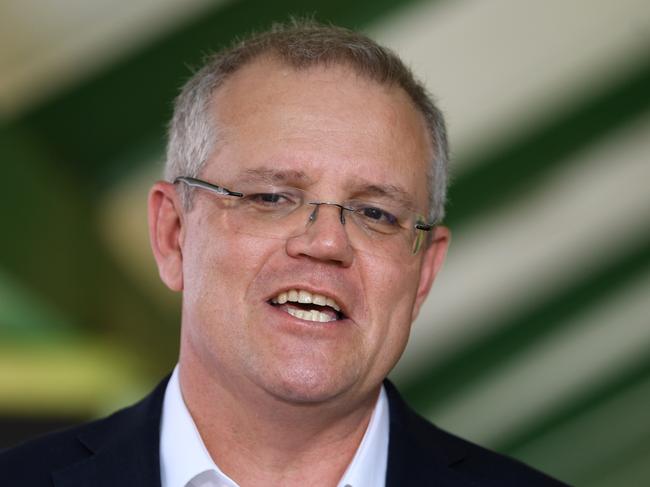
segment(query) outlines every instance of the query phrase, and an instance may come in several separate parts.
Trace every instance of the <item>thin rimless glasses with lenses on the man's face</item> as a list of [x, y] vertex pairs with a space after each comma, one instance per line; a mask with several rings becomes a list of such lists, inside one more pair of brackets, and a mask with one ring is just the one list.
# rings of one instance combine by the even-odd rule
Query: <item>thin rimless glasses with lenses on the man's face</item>
[[[183, 183], [219, 196], [215, 199], [228, 210], [232, 230], [253, 236], [287, 239], [304, 233], [318, 218], [321, 206], [339, 210], [339, 221], [347, 230], [348, 240], [357, 250], [396, 256], [416, 254], [426, 232], [435, 222], [399, 203], [352, 199], [343, 203], [318, 201], [309, 192], [294, 187], [272, 184], [242, 184], [237, 192], [201, 179], [181, 176], [174, 184]], [[351, 222], [352, 225], [348, 225]]]

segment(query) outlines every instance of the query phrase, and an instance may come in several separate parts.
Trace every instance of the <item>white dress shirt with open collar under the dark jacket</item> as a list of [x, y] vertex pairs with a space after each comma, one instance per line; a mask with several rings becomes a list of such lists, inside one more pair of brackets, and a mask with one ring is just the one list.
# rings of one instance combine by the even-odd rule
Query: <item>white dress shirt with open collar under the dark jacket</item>
[[[388, 399], [382, 387], [368, 428], [338, 487], [385, 486], [388, 425]], [[210, 457], [183, 401], [178, 366], [163, 402], [160, 477], [162, 487], [239, 487]]]

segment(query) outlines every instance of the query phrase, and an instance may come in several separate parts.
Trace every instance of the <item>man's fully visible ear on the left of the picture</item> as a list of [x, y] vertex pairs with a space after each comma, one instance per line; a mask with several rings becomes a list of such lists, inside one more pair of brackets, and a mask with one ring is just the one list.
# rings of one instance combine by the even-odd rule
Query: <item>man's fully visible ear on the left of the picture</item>
[[158, 181], [149, 191], [149, 239], [160, 278], [172, 291], [183, 289], [184, 237], [180, 198], [173, 184]]

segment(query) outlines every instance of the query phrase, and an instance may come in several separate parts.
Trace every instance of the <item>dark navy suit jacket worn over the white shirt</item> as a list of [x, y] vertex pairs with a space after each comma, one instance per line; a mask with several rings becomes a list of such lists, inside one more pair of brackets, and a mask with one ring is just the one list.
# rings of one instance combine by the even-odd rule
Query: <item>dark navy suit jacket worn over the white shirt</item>
[[[0, 485], [159, 487], [166, 384], [105, 419], [0, 453]], [[390, 408], [387, 487], [564, 485], [436, 428], [409, 409], [392, 384], [385, 385]]]

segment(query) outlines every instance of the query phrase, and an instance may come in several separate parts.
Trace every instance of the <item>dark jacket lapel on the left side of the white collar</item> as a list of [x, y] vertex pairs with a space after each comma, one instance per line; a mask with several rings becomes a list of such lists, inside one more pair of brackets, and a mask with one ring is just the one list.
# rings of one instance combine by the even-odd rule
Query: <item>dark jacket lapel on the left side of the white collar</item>
[[160, 487], [160, 418], [167, 380], [143, 401], [86, 429], [89, 456], [52, 473], [56, 487]]

